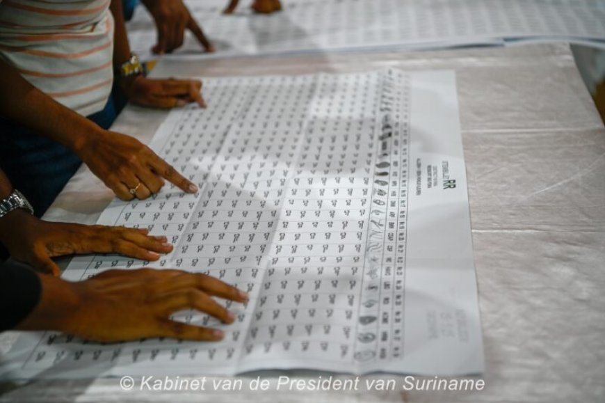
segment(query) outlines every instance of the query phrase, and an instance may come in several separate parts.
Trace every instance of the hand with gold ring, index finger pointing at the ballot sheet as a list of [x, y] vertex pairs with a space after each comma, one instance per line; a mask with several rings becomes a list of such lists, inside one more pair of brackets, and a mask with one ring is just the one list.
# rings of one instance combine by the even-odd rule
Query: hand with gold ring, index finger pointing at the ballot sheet
[[77, 146], [76, 154], [122, 200], [145, 199], [158, 193], [164, 185], [163, 179], [186, 193], [197, 191], [195, 184], [147, 145], [126, 134], [108, 130], [87, 134]]

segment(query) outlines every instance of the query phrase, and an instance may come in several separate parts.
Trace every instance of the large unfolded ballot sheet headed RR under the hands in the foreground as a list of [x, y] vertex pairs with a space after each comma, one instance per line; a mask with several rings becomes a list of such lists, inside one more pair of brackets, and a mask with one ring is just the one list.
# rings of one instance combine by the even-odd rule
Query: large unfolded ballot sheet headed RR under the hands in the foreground
[[145, 266], [216, 276], [250, 294], [221, 301], [234, 324], [173, 319], [225, 339], [24, 333], [3, 377], [483, 371], [453, 71], [207, 78], [204, 97], [207, 109], [171, 111], [152, 141], [200, 191], [167, 184], [99, 219], [166, 235], [174, 251], [74, 258], [63, 278]]

